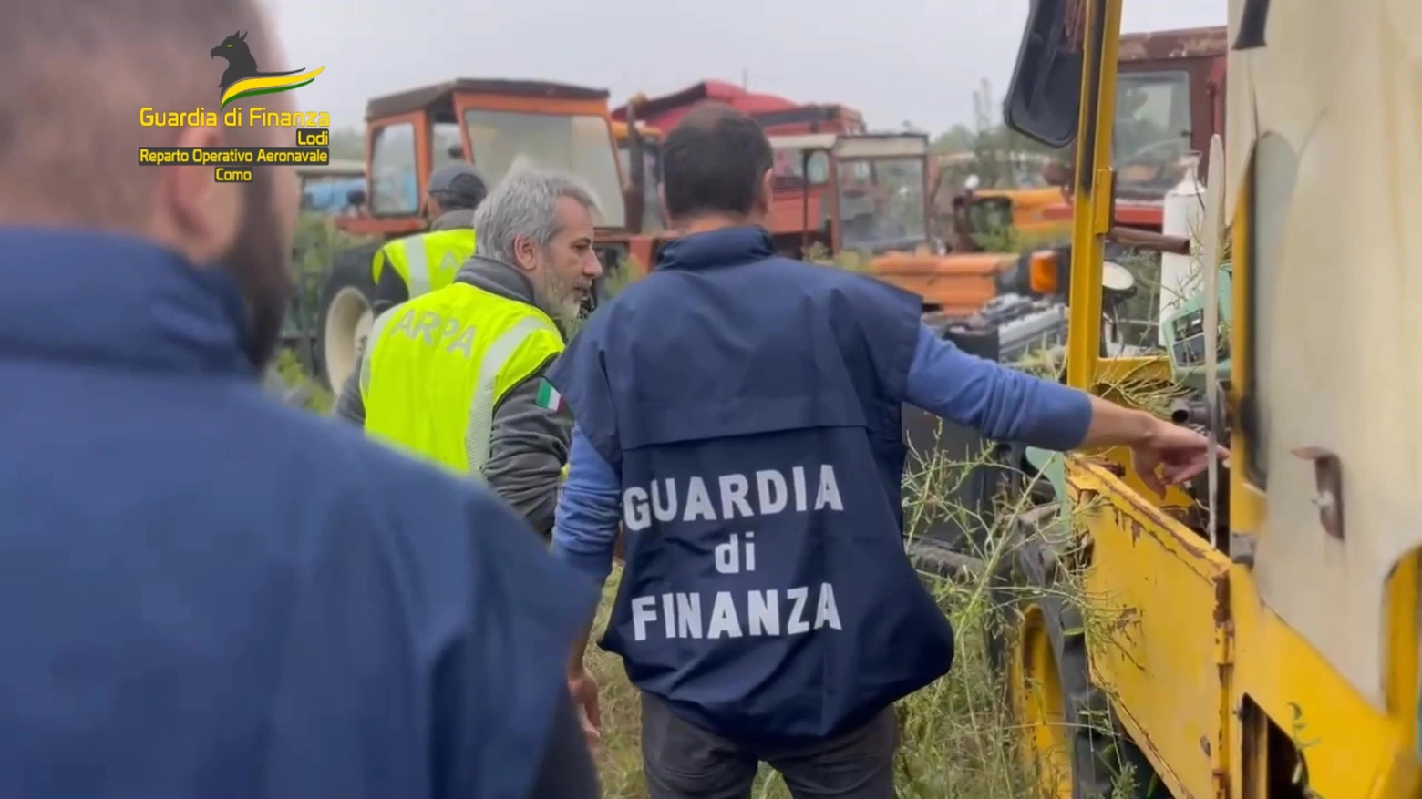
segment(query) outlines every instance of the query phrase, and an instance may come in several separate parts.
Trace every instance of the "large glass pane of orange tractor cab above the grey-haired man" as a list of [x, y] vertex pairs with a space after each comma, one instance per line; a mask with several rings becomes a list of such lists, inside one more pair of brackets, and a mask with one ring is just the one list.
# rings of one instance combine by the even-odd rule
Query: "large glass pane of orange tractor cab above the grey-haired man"
[[464, 112], [474, 165], [492, 189], [513, 169], [556, 169], [577, 175], [593, 191], [599, 227], [626, 227], [617, 149], [602, 117], [560, 117], [512, 111]]

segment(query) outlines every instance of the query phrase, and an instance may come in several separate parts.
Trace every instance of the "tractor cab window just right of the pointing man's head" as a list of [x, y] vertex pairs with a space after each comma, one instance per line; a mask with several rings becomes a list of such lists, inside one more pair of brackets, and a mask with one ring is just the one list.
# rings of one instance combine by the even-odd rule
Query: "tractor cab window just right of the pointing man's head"
[[923, 158], [840, 161], [839, 220], [845, 250], [910, 250], [929, 240]]

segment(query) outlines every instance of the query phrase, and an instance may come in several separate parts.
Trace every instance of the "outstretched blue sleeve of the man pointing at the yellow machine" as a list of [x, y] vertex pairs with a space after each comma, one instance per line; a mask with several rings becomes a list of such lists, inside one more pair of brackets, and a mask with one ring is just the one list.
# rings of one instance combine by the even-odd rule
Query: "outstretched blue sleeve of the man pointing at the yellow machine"
[[995, 441], [1065, 452], [1091, 427], [1091, 398], [1075, 388], [970, 355], [919, 330], [904, 401]]

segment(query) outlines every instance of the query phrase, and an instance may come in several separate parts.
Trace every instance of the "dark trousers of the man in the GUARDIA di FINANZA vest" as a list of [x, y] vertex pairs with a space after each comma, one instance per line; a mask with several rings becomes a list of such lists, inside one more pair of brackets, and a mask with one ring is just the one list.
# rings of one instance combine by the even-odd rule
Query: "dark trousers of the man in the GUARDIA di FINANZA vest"
[[886, 708], [843, 735], [795, 748], [742, 746], [641, 695], [641, 762], [651, 799], [751, 799], [761, 761], [795, 799], [893, 799], [899, 722]]

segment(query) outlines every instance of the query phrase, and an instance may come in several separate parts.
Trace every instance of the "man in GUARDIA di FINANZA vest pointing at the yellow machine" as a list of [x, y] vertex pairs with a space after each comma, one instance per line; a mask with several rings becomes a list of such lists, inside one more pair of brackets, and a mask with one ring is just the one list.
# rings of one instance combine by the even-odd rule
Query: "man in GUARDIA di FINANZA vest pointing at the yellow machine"
[[627, 536], [602, 647], [641, 690], [651, 799], [749, 798], [759, 762], [796, 799], [894, 796], [892, 705], [953, 663], [903, 547], [904, 402], [993, 439], [1130, 446], [1156, 488], [1206, 466], [1193, 431], [958, 351], [916, 294], [776, 256], [772, 165], [745, 114], [683, 118], [678, 237], [547, 371], [576, 418], [553, 552], [602, 584]]

